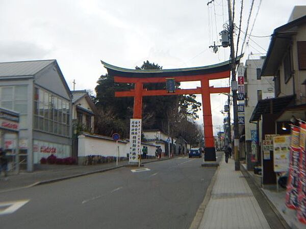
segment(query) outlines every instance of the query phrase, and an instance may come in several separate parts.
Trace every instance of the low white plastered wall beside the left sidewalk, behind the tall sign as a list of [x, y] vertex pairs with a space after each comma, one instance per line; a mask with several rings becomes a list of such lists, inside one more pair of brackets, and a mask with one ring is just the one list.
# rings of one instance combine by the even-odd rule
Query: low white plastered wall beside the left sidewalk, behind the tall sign
[[[78, 156], [85, 157], [88, 155], [117, 156], [116, 141], [89, 135], [79, 135]], [[120, 157], [126, 157], [129, 153], [130, 144], [126, 141], [118, 141]], [[148, 144], [141, 144], [148, 148], [148, 155], [155, 156], [156, 147]]]

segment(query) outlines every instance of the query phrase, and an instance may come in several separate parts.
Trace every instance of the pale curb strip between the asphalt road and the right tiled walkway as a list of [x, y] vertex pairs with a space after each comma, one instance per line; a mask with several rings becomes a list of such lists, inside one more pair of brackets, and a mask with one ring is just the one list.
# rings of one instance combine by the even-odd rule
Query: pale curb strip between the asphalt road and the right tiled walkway
[[[222, 159], [222, 156], [221, 156], [221, 159]], [[215, 174], [212, 178], [212, 181], [210, 183], [210, 185], [208, 186], [207, 190], [206, 190], [206, 194], [205, 194], [205, 197], [203, 199], [203, 202], [200, 204], [198, 210], [196, 211], [195, 213], [195, 216], [192, 220], [192, 223], [189, 227], [189, 229], [198, 229], [200, 224], [201, 224], [201, 221], [202, 221], [202, 218], [203, 218], [203, 215], [205, 213], [205, 209], [210, 201], [210, 198], [212, 196], [212, 192], [213, 192], [213, 188], [214, 188], [214, 185], [216, 183], [216, 180], [217, 180], [217, 176], [219, 174], [219, 170], [220, 170], [220, 167], [218, 166], [217, 167], [217, 170], [215, 171]]]

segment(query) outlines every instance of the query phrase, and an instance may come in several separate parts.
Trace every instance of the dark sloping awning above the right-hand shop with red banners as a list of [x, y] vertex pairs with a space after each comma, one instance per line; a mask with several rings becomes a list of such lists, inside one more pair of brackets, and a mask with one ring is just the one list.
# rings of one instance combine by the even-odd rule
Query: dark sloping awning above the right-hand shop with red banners
[[292, 95], [258, 101], [255, 109], [253, 110], [250, 122], [260, 120], [261, 115], [266, 113], [281, 113], [287, 106], [291, 105], [294, 98], [295, 96]]

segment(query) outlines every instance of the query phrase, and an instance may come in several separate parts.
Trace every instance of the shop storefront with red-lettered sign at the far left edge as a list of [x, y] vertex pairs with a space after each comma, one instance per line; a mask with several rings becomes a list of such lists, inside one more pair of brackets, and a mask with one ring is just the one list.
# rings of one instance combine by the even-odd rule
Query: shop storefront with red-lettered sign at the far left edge
[[19, 114], [0, 108], [0, 146], [7, 153], [8, 170], [19, 171]]

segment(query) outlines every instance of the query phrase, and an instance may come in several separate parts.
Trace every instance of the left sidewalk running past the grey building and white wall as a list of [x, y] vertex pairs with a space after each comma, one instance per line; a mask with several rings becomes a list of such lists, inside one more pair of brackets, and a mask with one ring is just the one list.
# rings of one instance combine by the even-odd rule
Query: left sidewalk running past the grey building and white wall
[[[162, 158], [160, 160], [166, 160]], [[157, 159], [144, 159], [142, 163], [158, 161]], [[0, 193], [16, 189], [27, 188], [39, 184], [45, 184], [69, 178], [85, 176], [94, 173], [100, 173], [105, 170], [123, 167], [129, 164], [129, 161], [120, 161], [118, 166], [116, 162], [103, 163], [97, 165], [42, 165], [41, 170], [33, 173], [21, 172], [18, 175], [8, 176], [5, 181], [3, 175], [0, 177]]]

